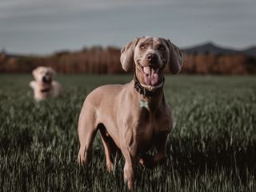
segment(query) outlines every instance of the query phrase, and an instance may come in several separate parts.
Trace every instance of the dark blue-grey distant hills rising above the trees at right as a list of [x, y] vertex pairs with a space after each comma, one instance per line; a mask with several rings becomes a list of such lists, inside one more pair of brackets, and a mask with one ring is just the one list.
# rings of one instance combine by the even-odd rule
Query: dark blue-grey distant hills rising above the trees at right
[[235, 50], [232, 48], [225, 48], [222, 46], [217, 46], [213, 42], [206, 42], [204, 44], [198, 46], [191, 46], [182, 51], [186, 54], [246, 54], [247, 56], [254, 56], [256, 57], [256, 46], [252, 46], [245, 50]]

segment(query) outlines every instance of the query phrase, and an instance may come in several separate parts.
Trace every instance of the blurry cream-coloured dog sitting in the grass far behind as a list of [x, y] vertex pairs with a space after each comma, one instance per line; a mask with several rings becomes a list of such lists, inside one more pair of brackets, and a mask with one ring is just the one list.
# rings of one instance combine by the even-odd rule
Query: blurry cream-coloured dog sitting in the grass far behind
[[38, 102], [62, 94], [62, 86], [53, 81], [55, 71], [51, 67], [38, 66], [32, 72], [35, 81], [30, 82], [34, 90], [34, 99]]

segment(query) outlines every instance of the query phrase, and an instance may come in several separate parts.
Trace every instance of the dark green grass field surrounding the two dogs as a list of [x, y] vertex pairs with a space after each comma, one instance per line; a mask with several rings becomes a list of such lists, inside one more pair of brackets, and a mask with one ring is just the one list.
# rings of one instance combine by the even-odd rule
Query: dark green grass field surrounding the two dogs
[[[79, 167], [77, 123], [91, 90], [132, 76], [59, 75], [62, 98], [36, 103], [30, 74], [0, 74], [0, 191], [126, 191], [102, 142]], [[135, 191], [256, 191], [256, 77], [170, 76], [174, 114], [164, 166], [138, 167]]]

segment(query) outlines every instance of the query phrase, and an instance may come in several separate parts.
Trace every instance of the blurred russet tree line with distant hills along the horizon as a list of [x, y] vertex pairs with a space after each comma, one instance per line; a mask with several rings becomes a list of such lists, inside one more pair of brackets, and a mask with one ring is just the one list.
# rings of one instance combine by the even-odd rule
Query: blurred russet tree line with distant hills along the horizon
[[[183, 49], [183, 52], [183, 74], [256, 74], [256, 46], [235, 50], [207, 42]], [[101, 46], [49, 55], [18, 55], [2, 51], [0, 73], [31, 73], [37, 66], [51, 66], [62, 74], [122, 74], [120, 54], [118, 47]]]

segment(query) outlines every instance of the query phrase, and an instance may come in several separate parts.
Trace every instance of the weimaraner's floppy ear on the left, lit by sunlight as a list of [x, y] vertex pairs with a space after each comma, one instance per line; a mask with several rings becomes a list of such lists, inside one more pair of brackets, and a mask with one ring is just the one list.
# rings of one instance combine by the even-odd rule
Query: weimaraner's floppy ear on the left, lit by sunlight
[[135, 38], [134, 41], [129, 42], [126, 46], [122, 47], [120, 62], [122, 64], [122, 68], [128, 72], [130, 70], [134, 70], [134, 49], [138, 42], [139, 38]]

